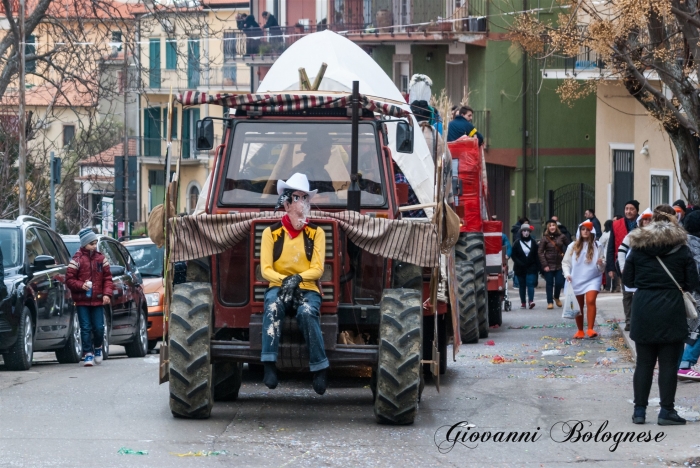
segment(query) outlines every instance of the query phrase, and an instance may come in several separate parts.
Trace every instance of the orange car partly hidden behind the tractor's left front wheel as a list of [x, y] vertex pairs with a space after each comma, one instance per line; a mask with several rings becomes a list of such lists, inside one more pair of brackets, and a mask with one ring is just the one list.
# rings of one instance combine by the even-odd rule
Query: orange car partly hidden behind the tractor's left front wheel
[[[122, 243], [143, 277], [143, 292], [148, 304], [148, 349], [163, 339], [163, 254], [151, 239], [138, 238]], [[167, 333], [167, 323], [165, 324]]]

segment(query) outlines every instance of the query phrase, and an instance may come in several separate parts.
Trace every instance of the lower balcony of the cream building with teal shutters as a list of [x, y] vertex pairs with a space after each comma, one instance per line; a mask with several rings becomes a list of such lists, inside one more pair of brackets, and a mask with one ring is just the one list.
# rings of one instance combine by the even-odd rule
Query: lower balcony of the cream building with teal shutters
[[[214, 138], [214, 141], [221, 141], [219, 135]], [[167, 148], [165, 138], [129, 137], [129, 156], [138, 156], [146, 164], [164, 164]], [[177, 162], [180, 155], [184, 165], [201, 164], [213, 156], [212, 151], [197, 151], [194, 138], [173, 138], [170, 148], [172, 164]]]

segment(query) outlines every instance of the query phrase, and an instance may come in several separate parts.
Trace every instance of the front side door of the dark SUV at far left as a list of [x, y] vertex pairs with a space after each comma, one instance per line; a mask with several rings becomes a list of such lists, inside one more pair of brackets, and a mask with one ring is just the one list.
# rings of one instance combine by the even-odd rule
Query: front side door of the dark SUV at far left
[[[29, 228], [25, 232], [24, 246], [25, 258], [30, 268], [31, 265], [34, 264], [34, 259], [36, 257], [39, 255], [49, 255], [45, 251], [39, 239], [39, 235], [34, 228]], [[36, 301], [37, 307], [34, 340], [37, 342], [38, 348], [49, 346], [50, 343], [48, 340], [57, 339], [58, 336], [52, 316], [56, 303], [56, 293], [54, 291], [51, 297], [49, 297], [52, 277], [51, 274], [44, 273], [45, 272], [35, 273], [28, 284], [29, 288], [34, 292], [34, 300]]]

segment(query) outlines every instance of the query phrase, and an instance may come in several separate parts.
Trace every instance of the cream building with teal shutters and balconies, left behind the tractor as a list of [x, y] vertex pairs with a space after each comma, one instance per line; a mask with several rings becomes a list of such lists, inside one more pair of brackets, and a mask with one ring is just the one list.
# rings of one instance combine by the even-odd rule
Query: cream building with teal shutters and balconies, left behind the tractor
[[[189, 8], [174, 8], [154, 20], [147, 9], [135, 10], [139, 63], [143, 70], [137, 156], [139, 166], [140, 220], [148, 219], [162, 203], [165, 184], [167, 103], [170, 92], [196, 90], [206, 93], [250, 91], [250, 68], [234, 62], [235, 43], [224, 40], [234, 28], [236, 15], [246, 13], [241, 2], [210, 0]], [[247, 5], [243, 3], [243, 5]], [[213, 151], [198, 152], [194, 135], [197, 120], [222, 117], [219, 106], [177, 104], [173, 109], [172, 155], [182, 158], [178, 211], [190, 213], [213, 163]], [[221, 122], [216, 122], [221, 139]], [[173, 158], [174, 170], [176, 158]]]

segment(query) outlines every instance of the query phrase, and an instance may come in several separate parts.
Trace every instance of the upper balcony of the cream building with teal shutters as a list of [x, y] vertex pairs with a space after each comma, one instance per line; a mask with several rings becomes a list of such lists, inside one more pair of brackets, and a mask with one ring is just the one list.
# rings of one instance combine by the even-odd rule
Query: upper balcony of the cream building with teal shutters
[[146, 93], [160, 94], [185, 90], [249, 91], [250, 71], [241, 63], [188, 69], [145, 69], [142, 85]]

